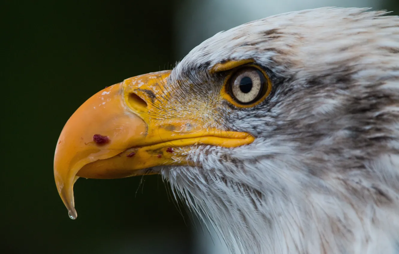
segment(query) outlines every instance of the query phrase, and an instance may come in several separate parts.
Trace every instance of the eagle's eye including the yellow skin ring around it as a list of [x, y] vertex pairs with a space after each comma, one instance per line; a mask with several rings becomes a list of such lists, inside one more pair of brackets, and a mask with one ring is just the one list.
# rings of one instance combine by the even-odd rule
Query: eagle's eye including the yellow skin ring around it
[[271, 92], [267, 74], [258, 66], [243, 66], [232, 72], [225, 82], [222, 96], [237, 107], [253, 107]]

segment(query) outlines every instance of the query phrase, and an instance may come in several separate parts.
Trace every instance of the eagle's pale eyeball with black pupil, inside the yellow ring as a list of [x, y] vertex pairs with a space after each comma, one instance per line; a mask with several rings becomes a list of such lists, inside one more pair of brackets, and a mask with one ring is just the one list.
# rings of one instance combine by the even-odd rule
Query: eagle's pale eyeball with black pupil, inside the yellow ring
[[231, 97], [241, 105], [251, 105], [270, 93], [269, 79], [256, 67], [245, 67], [237, 70], [227, 82]]

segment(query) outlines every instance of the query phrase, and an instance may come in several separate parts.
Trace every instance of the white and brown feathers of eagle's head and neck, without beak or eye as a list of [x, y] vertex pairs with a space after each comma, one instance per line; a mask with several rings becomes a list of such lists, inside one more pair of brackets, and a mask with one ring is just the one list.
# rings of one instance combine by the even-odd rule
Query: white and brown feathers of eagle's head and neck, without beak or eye
[[[253, 21], [172, 71], [164, 108], [187, 116], [190, 102], [204, 123], [256, 137], [184, 151], [196, 167], [153, 169], [232, 253], [399, 253], [399, 17], [383, 14], [320, 8]], [[209, 73], [239, 59], [273, 82], [255, 107], [223, 101], [225, 76]]]

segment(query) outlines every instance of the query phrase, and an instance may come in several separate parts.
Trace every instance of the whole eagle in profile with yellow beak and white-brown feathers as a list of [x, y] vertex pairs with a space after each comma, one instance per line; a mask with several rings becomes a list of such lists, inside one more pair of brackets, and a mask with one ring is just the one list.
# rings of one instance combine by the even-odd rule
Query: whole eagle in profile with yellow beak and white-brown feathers
[[399, 17], [366, 10], [252, 21], [89, 98], [55, 150], [70, 217], [79, 177], [161, 174], [231, 253], [399, 253]]

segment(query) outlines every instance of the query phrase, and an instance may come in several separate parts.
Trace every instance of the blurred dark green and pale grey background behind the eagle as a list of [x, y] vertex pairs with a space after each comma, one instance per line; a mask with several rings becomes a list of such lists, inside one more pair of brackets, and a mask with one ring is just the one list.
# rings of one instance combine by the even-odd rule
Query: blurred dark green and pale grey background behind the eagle
[[221, 254], [159, 176], [75, 184], [67, 215], [53, 154], [69, 116], [125, 78], [171, 68], [221, 30], [288, 11], [397, 0], [2, 1], [1, 253]]

